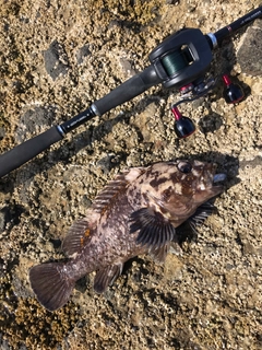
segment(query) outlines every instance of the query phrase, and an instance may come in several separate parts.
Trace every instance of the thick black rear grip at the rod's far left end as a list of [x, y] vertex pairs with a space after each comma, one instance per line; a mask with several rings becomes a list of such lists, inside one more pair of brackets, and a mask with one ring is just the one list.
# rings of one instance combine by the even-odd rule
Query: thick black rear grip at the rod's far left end
[[0, 155], [0, 177], [20, 167], [31, 159], [48, 149], [52, 143], [62, 139], [58, 128], [51, 127], [47, 131], [29, 139], [14, 149]]

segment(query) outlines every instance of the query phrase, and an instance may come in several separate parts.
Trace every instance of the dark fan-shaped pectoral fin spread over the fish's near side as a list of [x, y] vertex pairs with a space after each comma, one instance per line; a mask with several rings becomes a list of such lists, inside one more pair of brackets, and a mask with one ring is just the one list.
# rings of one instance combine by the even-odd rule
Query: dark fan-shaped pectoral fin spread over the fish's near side
[[152, 208], [134, 211], [130, 218], [130, 234], [139, 231], [136, 243], [157, 249], [170, 242], [176, 233], [170, 222]]

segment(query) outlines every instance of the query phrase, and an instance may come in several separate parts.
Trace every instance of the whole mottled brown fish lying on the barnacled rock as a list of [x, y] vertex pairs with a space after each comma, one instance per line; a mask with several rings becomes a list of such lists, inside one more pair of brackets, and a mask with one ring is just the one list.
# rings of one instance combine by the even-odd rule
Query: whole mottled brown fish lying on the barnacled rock
[[104, 293], [123, 264], [139, 255], [165, 262], [182, 225], [195, 230], [213, 212], [210, 199], [224, 190], [225, 178], [216, 174], [216, 164], [196, 160], [157, 162], [116, 175], [69, 229], [61, 245], [68, 260], [29, 269], [38, 302], [50, 312], [62, 307], [75, 282], [93, 271], [93, 288]]

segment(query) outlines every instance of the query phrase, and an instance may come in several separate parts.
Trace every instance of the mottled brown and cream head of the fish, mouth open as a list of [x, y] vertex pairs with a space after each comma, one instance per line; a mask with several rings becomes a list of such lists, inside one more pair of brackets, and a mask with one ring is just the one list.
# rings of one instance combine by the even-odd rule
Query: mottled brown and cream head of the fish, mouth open
[[[176, 226], [190, 218], [196, 208], [224, 189], [215, 174], [216, 164], [178, 160], [154, 164], [147, 178], [148, 205], [170, 219]], [[150, 186], [150, 187], [148, 187]]]

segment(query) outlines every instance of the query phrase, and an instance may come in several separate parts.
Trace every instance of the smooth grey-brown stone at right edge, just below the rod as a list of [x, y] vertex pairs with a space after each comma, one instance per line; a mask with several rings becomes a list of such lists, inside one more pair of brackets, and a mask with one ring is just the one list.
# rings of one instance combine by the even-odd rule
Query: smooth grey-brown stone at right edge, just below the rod
[[243, 73], [262, 75], [262, 20], [257, 20], [247, 30], [237, 59]]

